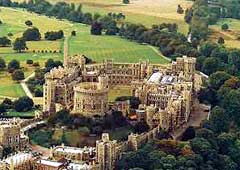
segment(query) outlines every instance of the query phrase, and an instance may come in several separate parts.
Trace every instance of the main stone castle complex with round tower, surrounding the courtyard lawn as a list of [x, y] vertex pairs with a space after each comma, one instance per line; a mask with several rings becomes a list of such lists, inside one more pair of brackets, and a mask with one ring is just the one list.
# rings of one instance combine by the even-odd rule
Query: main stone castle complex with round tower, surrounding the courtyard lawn
[[161, 125], [174, 130], [188, 121], [194, 94], [200, 89], [196, 59], [178, 57], [169, 65], [139, 63], [86, 64], [84, 56], [72, 56], [64, 68], [45, 75], [43, 111], [63, 108], [71, 114], [103, 116], [109, 110], [108, 91], [114, 85], [128, 85], [141, 101], [137, 113], [151, 128]]

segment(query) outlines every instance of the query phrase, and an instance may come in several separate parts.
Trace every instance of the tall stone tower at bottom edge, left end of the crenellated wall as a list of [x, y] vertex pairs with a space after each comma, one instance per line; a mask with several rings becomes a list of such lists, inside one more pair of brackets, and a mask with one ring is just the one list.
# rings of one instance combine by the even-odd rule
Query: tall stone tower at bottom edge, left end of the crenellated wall
[[96, 141], [97, 162], [101, 170], [113, 170], [117, 158], [117, 141], [111, 141], [108, 133], [102, 134], [102, 139]]

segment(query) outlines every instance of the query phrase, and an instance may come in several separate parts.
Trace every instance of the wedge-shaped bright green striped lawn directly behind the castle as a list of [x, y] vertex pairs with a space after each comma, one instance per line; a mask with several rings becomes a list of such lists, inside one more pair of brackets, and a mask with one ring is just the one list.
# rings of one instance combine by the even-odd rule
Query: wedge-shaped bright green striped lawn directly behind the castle
[[149, 60], [151, 63], [167, 63], [161, 54], [147, 45], [140, 45], [118, 36], [90, 35], [90, 27], [76, 24], [77, 36], [69, 40], [70, 54], [84, 54], [96, 62], [113, 59], [117, 62], [138, 62]]

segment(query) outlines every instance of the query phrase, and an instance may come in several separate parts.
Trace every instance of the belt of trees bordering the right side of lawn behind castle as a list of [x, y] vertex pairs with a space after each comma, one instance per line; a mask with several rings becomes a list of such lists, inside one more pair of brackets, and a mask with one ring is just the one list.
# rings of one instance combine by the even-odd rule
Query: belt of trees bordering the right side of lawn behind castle
[[177, 30], [177, 24], [162, 23], [153, 25], [149, 29], [143, 25], [127, 23], [121, 26], [119, 35], [139, 43], [159, 47], [163, 55], [171, 58], [182, 55], [196, 56], [197, 50]]

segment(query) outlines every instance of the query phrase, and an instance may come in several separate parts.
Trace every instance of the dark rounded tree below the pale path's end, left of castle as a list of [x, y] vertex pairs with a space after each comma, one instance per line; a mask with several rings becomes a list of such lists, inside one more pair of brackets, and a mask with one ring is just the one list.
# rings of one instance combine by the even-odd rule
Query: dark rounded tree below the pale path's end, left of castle
[[32, 109], [34, 103], [31, 98], [24, 96], [14, 101], [13, 105], [17, 112], [26, 112]]

